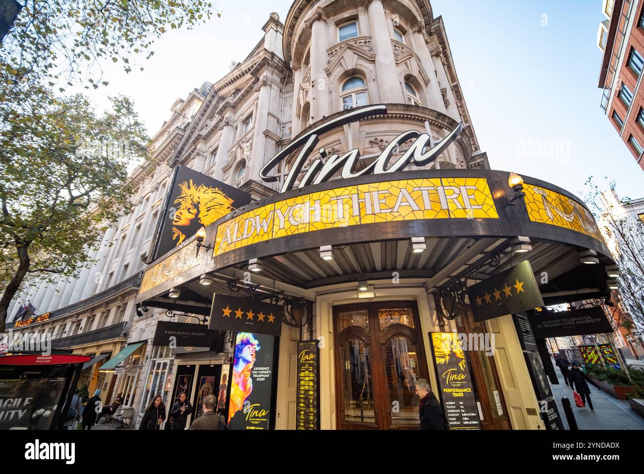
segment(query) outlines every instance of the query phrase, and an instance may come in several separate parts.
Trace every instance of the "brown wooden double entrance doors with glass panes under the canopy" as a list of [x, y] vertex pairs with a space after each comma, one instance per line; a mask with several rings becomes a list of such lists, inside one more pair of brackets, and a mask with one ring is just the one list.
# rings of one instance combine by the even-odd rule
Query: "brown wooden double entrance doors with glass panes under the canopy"
[[415, 382], [428, 379], [415, 301], [334, 308], [337, 426], [420, 428]]

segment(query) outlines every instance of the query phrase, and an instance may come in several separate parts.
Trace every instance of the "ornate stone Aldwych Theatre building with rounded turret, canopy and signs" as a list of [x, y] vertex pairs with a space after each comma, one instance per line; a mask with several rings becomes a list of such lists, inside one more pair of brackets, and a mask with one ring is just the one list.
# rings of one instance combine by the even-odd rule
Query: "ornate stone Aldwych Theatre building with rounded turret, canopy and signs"
[[297, 0], [262, 30], [155, 135], [136, 297], [87, 370], [135, 421], [186, 391], [231, 428], [415, 429], [427, 379], [450, 428], [558, 428], [528, 317], [609, 293], [585, 204], [490, 170], [428, 1]]

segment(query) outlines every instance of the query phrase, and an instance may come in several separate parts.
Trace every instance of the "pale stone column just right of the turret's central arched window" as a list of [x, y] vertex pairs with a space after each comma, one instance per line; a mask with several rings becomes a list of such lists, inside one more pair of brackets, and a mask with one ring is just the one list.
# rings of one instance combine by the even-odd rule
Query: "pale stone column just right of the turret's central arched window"
[[385, 103], [405, 103], [403, 89], [398, 77], [398, 68], [393, 55], [392, 39], [381, 0], [368, 3], [371, 43], [375, 52], [375, 73], [378, 79], [380, 100]]

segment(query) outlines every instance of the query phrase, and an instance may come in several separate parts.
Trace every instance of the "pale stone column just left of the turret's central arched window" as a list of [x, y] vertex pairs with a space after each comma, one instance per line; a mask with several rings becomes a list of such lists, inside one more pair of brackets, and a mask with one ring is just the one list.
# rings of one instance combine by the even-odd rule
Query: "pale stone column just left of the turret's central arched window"
[[[327, 68], [327, 15], [322, 8], [308, 19], [305, 27], [311, 28], [311, 92], [310, 106], [312, 121], [328, 115]], [[393, 54], [393, 53], [392, 53]]]

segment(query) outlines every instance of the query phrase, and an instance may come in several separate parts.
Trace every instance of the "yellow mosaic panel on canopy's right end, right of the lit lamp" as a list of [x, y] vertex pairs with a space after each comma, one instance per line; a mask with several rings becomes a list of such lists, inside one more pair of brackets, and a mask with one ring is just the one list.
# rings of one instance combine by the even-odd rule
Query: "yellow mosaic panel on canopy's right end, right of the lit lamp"
[[535, 184], [526, 183], [524, 192], [531, 221], [576, 230], [604, 242], [591, 212], [579, 202]]

